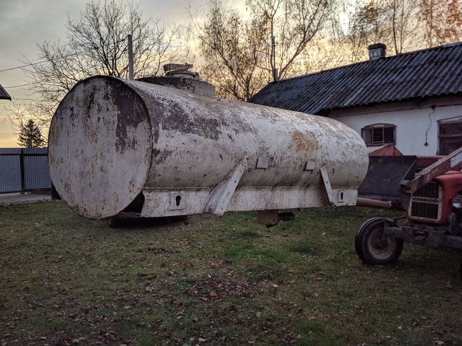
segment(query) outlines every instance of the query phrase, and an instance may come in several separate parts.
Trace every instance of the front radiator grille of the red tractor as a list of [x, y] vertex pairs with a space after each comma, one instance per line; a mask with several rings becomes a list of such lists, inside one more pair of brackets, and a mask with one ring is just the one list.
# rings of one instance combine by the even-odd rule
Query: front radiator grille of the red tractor
[[410, 216], [427, 220], [438, 220], [440, 213], [440, 185], [430, 181], [412, 194]]

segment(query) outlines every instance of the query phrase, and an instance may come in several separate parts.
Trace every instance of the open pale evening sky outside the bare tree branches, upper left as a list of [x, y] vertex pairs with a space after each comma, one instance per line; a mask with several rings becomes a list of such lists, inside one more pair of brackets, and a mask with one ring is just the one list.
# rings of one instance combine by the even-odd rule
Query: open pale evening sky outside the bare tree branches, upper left
[[[23, 65], [19, 59], [37, 56], [36, 43], [64, 40], [67, 14], [78, 18], [86, 0], [0, 0], [0, 70]], [[243, 3], [244, 1], [235, 1]], [[188, 19], [186, 8], [204, 5], [204, 0], [135, 0], [146, 16], [159, 17], [166, 24], [183, 24]], [[16, 99], [27, 98], [23, 87], [25, 76], [15, 69], [0, 73], [0, 84]], [[32, 97], [34, 98], [34, 97]], [[25, 102], [17, 100], [16, 103]], [[0, 112], [9, 101], [0, 100]], [[16, 136], [8, 122], [0, 121], [0, 147], [17, 147]]]

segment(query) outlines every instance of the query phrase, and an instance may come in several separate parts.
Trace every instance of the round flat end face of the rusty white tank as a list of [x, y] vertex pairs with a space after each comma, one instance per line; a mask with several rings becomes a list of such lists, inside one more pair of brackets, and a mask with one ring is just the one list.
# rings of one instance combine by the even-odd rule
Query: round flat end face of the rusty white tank
[[143, 189], [151, 153], [144, 101], [115, 78], [78, 83], [51, 121], [51, 179], [81, 216], [105, 218], [126, 208]]

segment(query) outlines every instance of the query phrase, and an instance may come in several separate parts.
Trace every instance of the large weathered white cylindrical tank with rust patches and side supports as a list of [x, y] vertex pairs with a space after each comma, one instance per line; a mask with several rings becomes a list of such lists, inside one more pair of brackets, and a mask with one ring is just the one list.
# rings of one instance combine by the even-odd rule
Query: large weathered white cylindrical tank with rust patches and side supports
[[70, 209], [99, 219], [354, 205], [368, 156], [332, 119], [95, 76], [57, 108], [49, 165]]

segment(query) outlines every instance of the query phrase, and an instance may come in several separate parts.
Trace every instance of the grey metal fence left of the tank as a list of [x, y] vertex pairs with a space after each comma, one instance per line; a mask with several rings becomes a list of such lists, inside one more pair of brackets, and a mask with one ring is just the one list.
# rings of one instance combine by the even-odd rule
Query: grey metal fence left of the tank
[[51, 189], [48, 148], [0, 148], [0, 193]]

